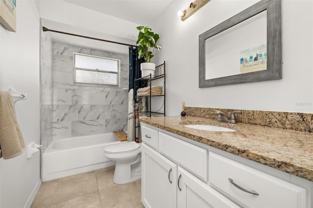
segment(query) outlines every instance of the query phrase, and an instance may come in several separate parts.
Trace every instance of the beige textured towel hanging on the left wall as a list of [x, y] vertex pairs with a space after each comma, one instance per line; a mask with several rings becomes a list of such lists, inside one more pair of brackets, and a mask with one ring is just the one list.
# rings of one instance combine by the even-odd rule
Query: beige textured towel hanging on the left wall
[[0, 158], [16, 157], [26, 149], [19, 124], [16, 120], [12, 95], [0, 91]]

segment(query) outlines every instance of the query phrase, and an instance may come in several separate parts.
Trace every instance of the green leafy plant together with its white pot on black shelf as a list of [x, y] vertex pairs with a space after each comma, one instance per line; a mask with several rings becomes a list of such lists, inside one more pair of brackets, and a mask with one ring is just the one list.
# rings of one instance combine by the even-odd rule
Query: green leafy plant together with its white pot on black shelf
[[148, 26], [138, 26], [139, 30], [138, 40], [138, 58], [144, 58], [145, 62], [140, 64], [141, 76], [146, 77], [148, 75], [154, 76], [156, 70], [156, 64], [151, 63], [152, 57], [154, 57], [154, 49], [161, 49], [161, 46], [157, 45], [156, 42], [159, 40], [159, 35], [152, 32], [151, 27]]

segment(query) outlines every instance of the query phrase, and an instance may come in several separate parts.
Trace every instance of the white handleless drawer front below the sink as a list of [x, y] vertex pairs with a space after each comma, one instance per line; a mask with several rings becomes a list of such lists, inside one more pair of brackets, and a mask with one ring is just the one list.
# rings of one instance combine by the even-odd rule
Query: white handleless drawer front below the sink
[[207, 150], [159, 132], [158, 151], [207, 182]]

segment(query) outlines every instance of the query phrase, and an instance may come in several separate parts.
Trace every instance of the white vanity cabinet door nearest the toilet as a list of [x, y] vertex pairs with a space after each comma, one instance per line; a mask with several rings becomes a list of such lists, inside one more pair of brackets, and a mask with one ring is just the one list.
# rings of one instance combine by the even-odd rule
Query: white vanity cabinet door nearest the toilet
[[141, 202], [145, 208], [176, 208], [177, 165], [141, 145]]

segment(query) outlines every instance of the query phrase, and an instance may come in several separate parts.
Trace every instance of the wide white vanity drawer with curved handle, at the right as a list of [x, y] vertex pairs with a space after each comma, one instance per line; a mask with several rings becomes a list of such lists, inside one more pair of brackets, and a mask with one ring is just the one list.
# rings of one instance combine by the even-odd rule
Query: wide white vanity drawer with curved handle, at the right
[[212, 152], [209, 152], [208, 172], [210, 185], [225, 192], [243, 206], [306, 207], [306, 189]]

